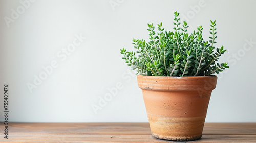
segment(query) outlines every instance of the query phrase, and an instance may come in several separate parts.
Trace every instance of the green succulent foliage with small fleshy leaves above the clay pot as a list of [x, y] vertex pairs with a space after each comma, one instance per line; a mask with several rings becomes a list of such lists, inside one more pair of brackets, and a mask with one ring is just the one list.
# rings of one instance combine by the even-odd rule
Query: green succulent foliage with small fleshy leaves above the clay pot
[[[135, 51], [128, 52], [121, 49], [123, 59], [132, 66], [131, 70], [138, 69], [138, 73], [148, 76], [208, 76], [229, 68], [227, 63], [216, 63], [226, 50], [215, 47], [216, 21], [211, 22], [209, 41], [202, 37], [203, 27], [189, 34], [187, 22], [179, 22], [179, 13], [174, 13], [173, 32], [164, 31], [162, 22], [158, 25], [158, 33], [153, 24], [148, 25], [150, 41], [133, 39]], [[136, 57], [135, 53], [139, 56]], [[138, 74], [137, 73], [137, 74]]]

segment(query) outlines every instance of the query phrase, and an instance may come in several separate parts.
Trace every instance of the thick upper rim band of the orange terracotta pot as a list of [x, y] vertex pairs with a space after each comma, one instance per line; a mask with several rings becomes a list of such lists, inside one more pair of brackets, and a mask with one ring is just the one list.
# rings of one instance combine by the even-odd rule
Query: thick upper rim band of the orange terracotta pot
[[137, 80], [139, 88], [144, 90], [198, 91], [215, 89], [217, 76], [166, 77], [138, 75]]

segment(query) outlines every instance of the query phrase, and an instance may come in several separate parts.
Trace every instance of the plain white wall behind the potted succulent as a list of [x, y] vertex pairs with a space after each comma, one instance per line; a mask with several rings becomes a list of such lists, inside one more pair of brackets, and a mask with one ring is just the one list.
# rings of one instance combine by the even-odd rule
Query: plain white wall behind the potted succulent
[[[255, 5], [248, 0], [1, 0], [1, 114], [8, 83], [12, 122], [147, 122], [136, 76], [119, 49], [132, 50], [133, 38], [148, 39], [147, 23], [163, 22], [172, 30], [178, 11], [187, 17], [190, 32], [203, 25], [206, 40], [210, 20], [216, 20], [217, 46], [228, 49], [220, 61], [230, 68], [218, 75], [206, 122], [256, 122]], [[62, 50], [76, 34], [86, 39], [64, 59]], [[58, 66], [30, 92], [27, 83], [34, 84], [34, 76], [54, 61]], [[92, 106], [100, 106], [100, 99], [111, 93], [108, 88], [120, 84], [96, 114]]]

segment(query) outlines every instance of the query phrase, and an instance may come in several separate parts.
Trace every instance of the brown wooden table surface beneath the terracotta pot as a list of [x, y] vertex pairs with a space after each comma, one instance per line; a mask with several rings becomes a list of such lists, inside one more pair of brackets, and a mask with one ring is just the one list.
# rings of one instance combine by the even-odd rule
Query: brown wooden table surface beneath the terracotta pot
[[[0, 142], [177, 142], [152, 137], [148, 123], [8, 123], [8, 139], [0, 125]], [[205, 123], [188, 142], [256, 142], [256, 123]]]

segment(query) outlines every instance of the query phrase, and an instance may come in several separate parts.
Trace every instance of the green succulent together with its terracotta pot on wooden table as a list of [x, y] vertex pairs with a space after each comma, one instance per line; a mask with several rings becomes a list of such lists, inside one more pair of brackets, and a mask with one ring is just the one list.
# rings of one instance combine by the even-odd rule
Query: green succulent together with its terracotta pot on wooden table
[[[203, 27], [187, 32], [174, 12], [174, 31], [162, 23], [148, 24], [150, 40], [133, 39], [136, 51], [121, 49], [123, 59], [137, 69], [152, 135], [159, 139], [189, 141], [201, 138], [210, 94], [217, 76], [227, 63], [217, 63], [223, 46], [215, 47], [216, 21], [211, 22], [209, 41], [202, 37]], [[135, 56], [138, 53], [139, 56]], [[137, 73], [137, 74], [138, 74]]]

